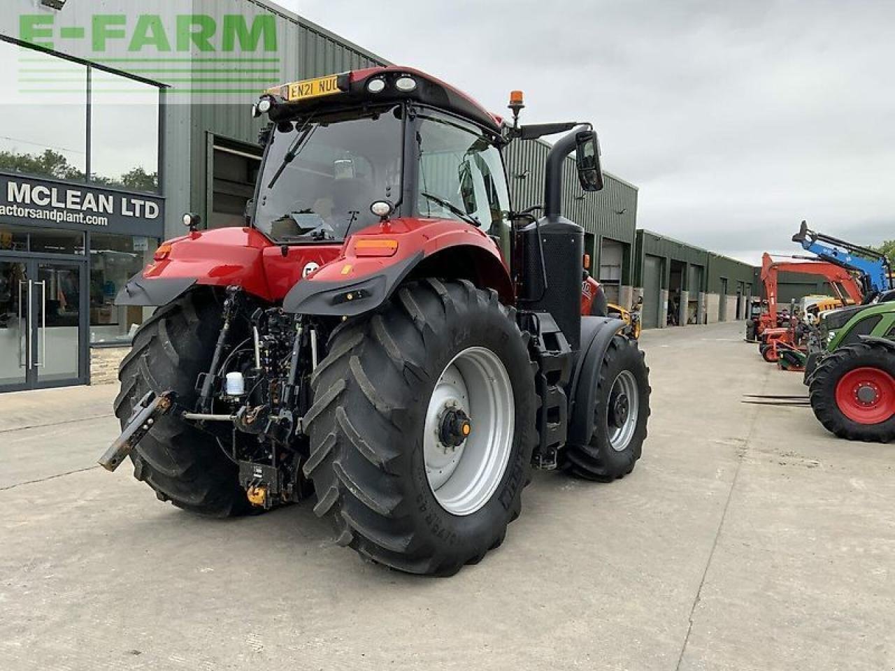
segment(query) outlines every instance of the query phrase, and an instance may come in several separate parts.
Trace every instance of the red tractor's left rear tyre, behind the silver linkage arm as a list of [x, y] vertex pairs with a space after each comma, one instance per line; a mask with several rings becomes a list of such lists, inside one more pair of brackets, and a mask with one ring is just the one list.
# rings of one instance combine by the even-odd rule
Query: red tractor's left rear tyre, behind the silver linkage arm
[[[192, 406], [196, 378], [209, 369], [221, 325], [221, 306], [208, 290], [184, 294], [143, 323], [118, 369], [121, 391], [115, 416], [122, 429], [134, 404], [149, 390], [174, 390], [178, 403]], [[161, 501], [215, 517], [251, 509], [236, 466], [215, 438], [175, 415], [156, 421], [131, 460], [133, 476], [155, 490]]]

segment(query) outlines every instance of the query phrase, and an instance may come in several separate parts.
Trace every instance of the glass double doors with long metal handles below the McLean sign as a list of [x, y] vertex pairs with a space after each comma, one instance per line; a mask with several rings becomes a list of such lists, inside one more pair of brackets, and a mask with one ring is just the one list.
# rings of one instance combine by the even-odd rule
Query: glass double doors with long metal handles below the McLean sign
[[86, 382], [84, 264], [0, 260], [0, 390]]

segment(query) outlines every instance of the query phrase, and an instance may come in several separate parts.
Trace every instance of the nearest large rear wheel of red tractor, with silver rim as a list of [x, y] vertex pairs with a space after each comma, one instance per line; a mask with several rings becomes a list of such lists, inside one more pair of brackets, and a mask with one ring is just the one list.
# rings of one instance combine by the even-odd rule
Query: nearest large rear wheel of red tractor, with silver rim
[[533, 363], [493, 292], [435, 279], [346, 322], [311, 379], [314, 512], [337, 541], [450, 575], [504, 539], [530, 479]]

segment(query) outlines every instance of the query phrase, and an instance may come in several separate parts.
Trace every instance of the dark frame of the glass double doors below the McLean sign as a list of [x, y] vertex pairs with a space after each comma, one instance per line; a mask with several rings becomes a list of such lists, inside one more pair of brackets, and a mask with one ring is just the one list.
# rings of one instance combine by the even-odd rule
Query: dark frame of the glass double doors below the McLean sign
[[[45, 254], [30, 251], [0, 251], [0, 262], [23, 263], [30, 281], [38, 275], [38, 265], [75, 266], [79, 270], [78, 299], [78, 373], [75, 377], [42, 382], [38, 370], [27, 368], [24, 383], [0, 385], [0, 393], [27, 391], [30, 389], [50, 389], [57, 386], [87, 385], [90, 383], [90, 268], [88, 259], [79, 254]], [[18, 287], [16, 287], [18, 290]], [[21, 297], [19, 299], [21, 301]], [[33, 319], [37, 311], [28, 306], [28, 319]], [[31, 347], [38, 344], [37, 325], [32, 325]]]

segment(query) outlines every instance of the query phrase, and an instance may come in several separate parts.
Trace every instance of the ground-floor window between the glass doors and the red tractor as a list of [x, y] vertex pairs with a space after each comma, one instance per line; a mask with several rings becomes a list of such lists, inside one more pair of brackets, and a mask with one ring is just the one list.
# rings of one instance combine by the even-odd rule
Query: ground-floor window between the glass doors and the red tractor
[[115, 305], [115, 295], [151, 261], [158, 239], [90, 234], [90, 344], [127, 344], [151, 308]]

